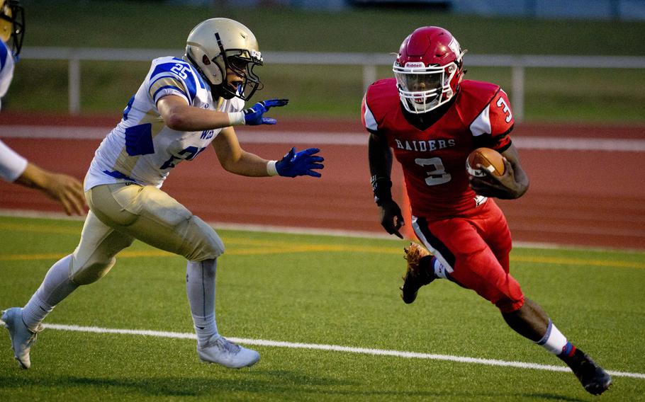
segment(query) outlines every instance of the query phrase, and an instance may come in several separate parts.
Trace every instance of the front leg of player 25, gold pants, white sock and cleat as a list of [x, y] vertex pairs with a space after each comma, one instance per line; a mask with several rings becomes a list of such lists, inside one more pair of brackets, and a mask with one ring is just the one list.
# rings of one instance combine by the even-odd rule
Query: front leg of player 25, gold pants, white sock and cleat
[[254, 350], [225, 340], [215, 321], [215, 273], [224, 244], [211, 226], [153, 186], [103, 185], [91, 202], [118, 211], [108, 224], [164, 251], [183, 255], [188, 295], [201, 360], [227, 367], [245, 367], [259, 360]]

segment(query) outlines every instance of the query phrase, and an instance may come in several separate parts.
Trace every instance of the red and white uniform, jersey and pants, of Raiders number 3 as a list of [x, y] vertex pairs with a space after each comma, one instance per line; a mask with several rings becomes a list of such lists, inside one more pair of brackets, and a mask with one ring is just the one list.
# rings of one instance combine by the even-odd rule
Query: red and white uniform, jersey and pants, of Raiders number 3
[[395, 79], [376, 81], [363, 99], [361, 120], [387, 140], [403, 167], [417, 236], [451, 279], [502, 311], [519, 309], [524, 298], [508, 275], [505, 217], [493, 200], [469, 188], [466, 173], [473, 149], [503, 152], [510, 146], [514, 121], [506, 93], [495, 84], [464, 80], [448, 110], [425, 130], [408, 122], [400, 102]]

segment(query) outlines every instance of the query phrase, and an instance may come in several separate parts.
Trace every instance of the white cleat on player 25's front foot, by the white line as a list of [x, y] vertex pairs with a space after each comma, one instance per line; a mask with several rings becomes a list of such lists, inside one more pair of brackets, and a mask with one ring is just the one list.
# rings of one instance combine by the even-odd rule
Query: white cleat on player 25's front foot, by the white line
[[206, 363], [218, 363], [230, 369], [249, 367], [260, 360], [255, 350], [242, 348], [222, 335], [213, 335], [206, 345], [197, 345], [199, 360]]

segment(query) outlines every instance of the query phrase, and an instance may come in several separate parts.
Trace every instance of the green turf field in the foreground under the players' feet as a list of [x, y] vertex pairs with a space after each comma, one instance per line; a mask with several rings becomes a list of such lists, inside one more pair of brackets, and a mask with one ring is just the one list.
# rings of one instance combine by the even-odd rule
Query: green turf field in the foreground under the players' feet
[[[23, 305], [69, 253], [82, 222], [1, 217], [0, 306]], [[198, 362], [195, 341], [49, 328], [18, 369], [0, 338], [1, 401], [591, 401], [570, 372], [449, 361], [557, 365], [498, 311], [449, 282], [407, 306], [398, 297], [404, 241], [219, 231], [220, 333], [441, 355], [437, 359], [256, 345], [231, 370]], [[603, 401], [644, 400], [645, 254], [517, 248], [512, 273], [574, 343], [612, 372]], [[191, 333], [184, 261], [135, 243], [108, 276], [82, 287], [47, 323]], [[4, 332], [4, 330], [3, 330]], [[423, 356], [422, 356], [423, 357]], [[425, 355], [425, 357], [428, 357]]]

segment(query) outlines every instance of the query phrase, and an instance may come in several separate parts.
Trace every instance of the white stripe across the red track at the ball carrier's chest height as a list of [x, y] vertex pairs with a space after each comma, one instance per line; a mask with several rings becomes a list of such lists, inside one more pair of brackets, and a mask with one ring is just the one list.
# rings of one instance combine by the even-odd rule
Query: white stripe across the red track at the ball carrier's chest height
[[[66, 127], [0, 125], [0, 137], [103, 139], [112, 127]], [[315, 144], [367, 146], [363, 132], [275, 132], [238, 128], [242, 143]], [[556, 149], [573, 151], [645, 152], [642, 139], [602, 139], [567, 137], [517, 137], [513, 142], [520, 149]]]

